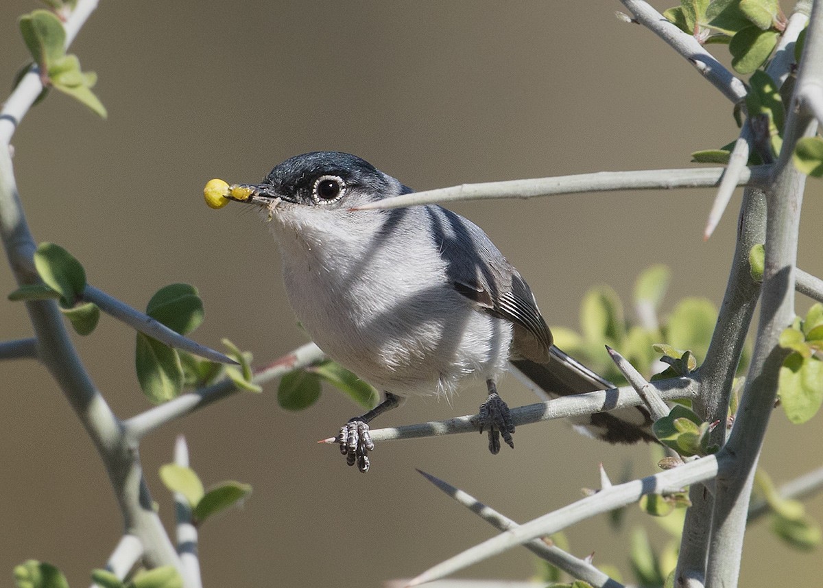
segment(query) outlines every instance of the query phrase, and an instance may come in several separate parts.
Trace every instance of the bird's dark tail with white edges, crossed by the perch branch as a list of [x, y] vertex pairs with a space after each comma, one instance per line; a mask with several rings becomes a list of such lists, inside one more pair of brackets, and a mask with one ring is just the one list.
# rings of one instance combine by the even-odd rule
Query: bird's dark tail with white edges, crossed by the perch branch
[[[547, 363], [513, 359], [511, 364], [519, 372], [519, 376], [532, 382], [533, 385], [529, 386], [532, 390], [547, 399], [615, 387], [554, 345], [549, 350]], [[620, 408], [608, 413], [584, 414], [570, 417], [569, 420], [584, 435], [609, 443], [657, 441], [651, 431], [649, 411], [642, 406]]]

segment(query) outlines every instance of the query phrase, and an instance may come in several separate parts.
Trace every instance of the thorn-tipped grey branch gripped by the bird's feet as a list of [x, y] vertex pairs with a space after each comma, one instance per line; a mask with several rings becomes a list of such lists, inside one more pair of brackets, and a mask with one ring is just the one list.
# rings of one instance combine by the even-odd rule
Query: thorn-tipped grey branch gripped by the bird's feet
[[[655, 382], [658, 393], [664, 399], [695, 398], [698, 394], [698, 385], [695, 380], [687, 378], [672, 378]], [[598, 390], [585, 394], [561, 396], [546, 402], [528, 404], [512, 408], [511, 419], [515, 426], [528, 425], [534, 422], [551, 421], [556, 418], [577, 417], [584, 414], [602, 413], [616, 408], [625, 408], [643, 404], [637, 392], [631, 386]], [[386, 427], [371, 431], [372, 441], [393, 441], [396, 439], [412, 439], [455, 433], [477, 433], [478, 415], [449, 418], [446, 421], [422, 422], [405, 427]], [[336, 437], [323, 439], [323, 443], [336, 443]]]

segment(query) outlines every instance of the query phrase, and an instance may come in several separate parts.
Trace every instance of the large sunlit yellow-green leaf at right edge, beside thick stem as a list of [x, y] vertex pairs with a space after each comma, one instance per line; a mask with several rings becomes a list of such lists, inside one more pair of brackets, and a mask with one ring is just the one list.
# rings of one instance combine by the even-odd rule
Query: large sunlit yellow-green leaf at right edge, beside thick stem
[[789, 353], [780, 367], [778, 392], [788, 420], [807, 422], [823, 404], [823, 362], [815, 356]]

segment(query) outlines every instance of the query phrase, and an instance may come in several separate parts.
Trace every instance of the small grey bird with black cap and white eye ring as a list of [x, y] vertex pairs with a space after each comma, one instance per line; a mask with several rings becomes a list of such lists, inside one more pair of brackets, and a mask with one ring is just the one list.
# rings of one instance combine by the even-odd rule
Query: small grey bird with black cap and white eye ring
[[[291, 157], [239, 202], [261, 208], [279, 245], [291, 307], [314, 343], [383, 390], [384, 401], [338, 436], [349, 465], [369, 469], [368, 423], [413, 394], [449, 398], [486, 380], [479, 429], [489, 450], [514, 447], [496, 382], [512, 365], [551, 397], [612, 388], [552, 344], [531, 289], [486, 233], [445, 208], [353, 210], [407, 188], [340, 152]], [[653, 441], [643, 407], [572, 419], [611, 443]]]

